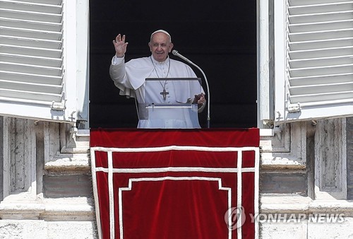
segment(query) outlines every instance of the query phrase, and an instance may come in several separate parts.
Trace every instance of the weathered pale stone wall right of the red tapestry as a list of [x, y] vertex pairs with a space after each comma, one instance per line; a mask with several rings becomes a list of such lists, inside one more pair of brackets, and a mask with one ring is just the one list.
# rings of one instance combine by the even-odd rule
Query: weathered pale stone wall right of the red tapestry
[[294, 122], [275, 129], [280, 140], [261, 137], [261, 238], [353, 237], [352, 123]]

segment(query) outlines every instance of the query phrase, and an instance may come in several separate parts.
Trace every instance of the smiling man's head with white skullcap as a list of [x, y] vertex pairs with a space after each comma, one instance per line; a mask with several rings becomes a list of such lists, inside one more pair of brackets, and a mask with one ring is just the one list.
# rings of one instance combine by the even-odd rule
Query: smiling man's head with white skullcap
[[157, 62], [164, 62], [167, 59], [168, 53], [173, 48], [173, 43], [170, 42], [169, 36], [165, 33], [153, 34], [148, 45], [150, 46], [153, 58]]

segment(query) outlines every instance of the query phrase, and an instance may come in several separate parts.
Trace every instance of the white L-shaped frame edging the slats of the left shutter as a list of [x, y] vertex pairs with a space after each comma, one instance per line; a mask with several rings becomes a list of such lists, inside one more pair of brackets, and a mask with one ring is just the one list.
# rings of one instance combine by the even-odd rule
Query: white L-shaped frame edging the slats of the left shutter
[[3, 97], [0, 115], [54, 122], [88, 122], [89, 1], [63, 0], [62, 7], [63, 100], [49, 103]]

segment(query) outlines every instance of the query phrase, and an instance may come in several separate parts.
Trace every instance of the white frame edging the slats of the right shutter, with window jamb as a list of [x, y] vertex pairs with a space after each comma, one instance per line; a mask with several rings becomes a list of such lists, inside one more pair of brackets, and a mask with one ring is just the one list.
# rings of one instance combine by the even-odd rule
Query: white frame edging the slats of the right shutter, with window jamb
[[[273, 127], [274, 124], [309, 119], [352, 116], [353, 100], [349, 99], [330, 102], [322, 100], [311, 105], [289, 103], [287, 1], [270, 1], [269, 4], [264, 2], [266, 1], [258, 0], [258, 127]], [[272, 15], [273, 21], [268, 19]], [[273, 33], [270, 30], [263, 30], [265, 27], [270, 30], [273, 28]], [[270, 52], [267, 53], [269, 48]], [[273, 75], [270, 74], [271, 70]], [[274, 95], [273, 98], [271, 94]]]

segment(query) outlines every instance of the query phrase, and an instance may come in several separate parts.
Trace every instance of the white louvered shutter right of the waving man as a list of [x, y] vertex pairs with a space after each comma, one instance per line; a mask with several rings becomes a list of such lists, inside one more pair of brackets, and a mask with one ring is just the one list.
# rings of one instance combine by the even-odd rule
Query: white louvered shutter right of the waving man
[[274, 14], [277, 121], [352, 115], [353, 1], [275, 1]]

